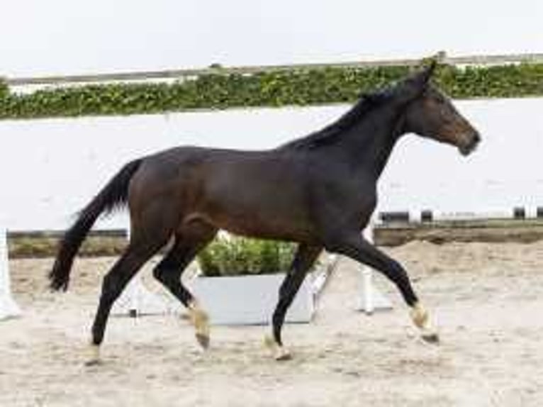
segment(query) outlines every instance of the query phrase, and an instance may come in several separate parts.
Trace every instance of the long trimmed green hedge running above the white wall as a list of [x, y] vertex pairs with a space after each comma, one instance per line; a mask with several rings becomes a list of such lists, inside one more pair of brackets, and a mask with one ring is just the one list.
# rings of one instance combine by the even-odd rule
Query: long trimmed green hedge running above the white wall
[[[0, 81], [0, 118], [129, 115], [247, 106], [351, 102], [408, 74], [408, 67], [206, 74], [172, 84], [103, 84], [14, 94]], [[457, 99], [543, 95], [543, 64], [441, 66], [435, 78]]]

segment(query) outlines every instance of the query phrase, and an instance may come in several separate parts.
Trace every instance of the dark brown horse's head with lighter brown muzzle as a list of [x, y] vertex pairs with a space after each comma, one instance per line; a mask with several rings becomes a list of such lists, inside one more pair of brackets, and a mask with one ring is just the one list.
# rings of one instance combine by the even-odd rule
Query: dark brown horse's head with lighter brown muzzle
[[463, 155], [481, 141], [478, 131], [461, 116], [452, 101], [430, 83], [435, 64], [399, 85], [405, 102], [404, 129], [458, 147]]

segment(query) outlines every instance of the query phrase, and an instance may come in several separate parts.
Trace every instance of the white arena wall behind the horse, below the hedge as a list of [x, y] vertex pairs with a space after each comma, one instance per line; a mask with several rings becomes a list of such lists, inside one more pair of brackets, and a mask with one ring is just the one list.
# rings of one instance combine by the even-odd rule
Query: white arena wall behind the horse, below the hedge
[[[379, 211], [543, 205], [543, 98], [457, 101], [481, 131], [470, 157], [408, 135], [379, 184]], [[334, 121], [347, 105], [0, 121], [0, 212], [10, 230], [65, 229], [128, 160], [176, 145], [255, 150]], [[125, 228], [125, 216], [98, 228]]]

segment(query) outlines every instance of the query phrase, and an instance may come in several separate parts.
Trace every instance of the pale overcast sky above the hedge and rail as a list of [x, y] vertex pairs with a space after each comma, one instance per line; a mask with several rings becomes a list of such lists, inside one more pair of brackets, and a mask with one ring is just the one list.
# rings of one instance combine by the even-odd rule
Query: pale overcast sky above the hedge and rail
[[541, 0], [4, 0], [0, 76], [543, 52]]

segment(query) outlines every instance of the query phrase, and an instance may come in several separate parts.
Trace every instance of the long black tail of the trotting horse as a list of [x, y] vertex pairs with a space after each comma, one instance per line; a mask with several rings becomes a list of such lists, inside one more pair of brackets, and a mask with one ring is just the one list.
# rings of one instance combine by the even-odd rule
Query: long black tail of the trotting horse
[[69, 282], [69, 272], [72, 269], [74, 257], [83, 240], [101, 213], [110, 213], [113, 209], [124, 206], [128, 199], [128, 184], [133, 174], [140, 167], [142, 160], [129, 162], [116, 174], [113, 179], [99, 192], [98, 195], [79, 213], [77, 221], [69, 228], [62, 238], [55, 264], [49, 273], [50, 287], [54, 290], [66, 291]]

